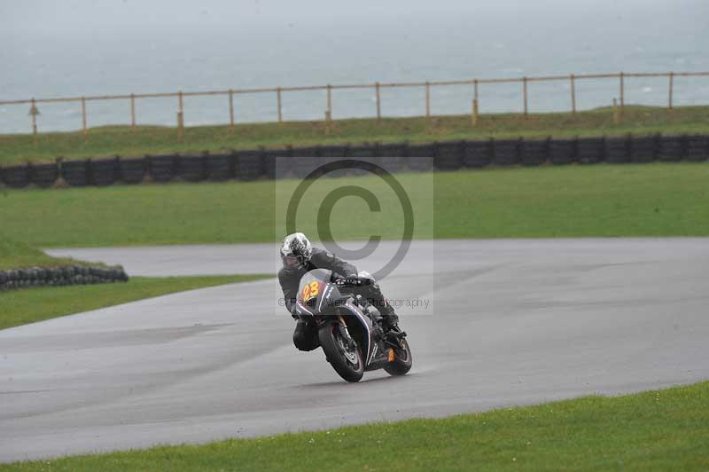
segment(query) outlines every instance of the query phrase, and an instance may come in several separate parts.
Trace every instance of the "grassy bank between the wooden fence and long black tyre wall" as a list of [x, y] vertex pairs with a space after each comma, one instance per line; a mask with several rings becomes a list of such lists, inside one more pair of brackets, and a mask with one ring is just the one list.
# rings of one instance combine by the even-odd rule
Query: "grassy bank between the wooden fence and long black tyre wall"
[[[40, 129], [42, 122], [40, 120]], [[84, 139], [80, 131], [31, 135], [0, 135], [0, 165], [22, 161], [51, 161], [65, 158], [142, 156], [145, 153], [218, 151], [224, 148], [249, 149], [258, 146], [282, 148], [286, 145], [312, 146], [379, 141], [425, 142], [447, 139], [503, 137], [598, 136], [627, 132], [705, 133], [709, 131], [709, 106], [682, 106], [669, 112], [652, 106], [626, 106], [624, 119], [614, 124], [612, 110], [599, 108], [578, 114], [483, 114], [479, 125], [471, 127], [470, 115], [426, 119], [350, 119], [334, 122], [327, 130], [323, 122], [284, 122], [200, 126], [187, 128], [183, 143], [177, 142], [175, 128], [107, 126], [90, 129]]]

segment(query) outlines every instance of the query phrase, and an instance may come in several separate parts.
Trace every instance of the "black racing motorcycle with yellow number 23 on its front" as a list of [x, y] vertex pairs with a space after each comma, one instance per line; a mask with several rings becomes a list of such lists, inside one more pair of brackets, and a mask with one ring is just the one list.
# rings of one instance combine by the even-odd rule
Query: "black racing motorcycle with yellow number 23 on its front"
[[358, 287], [372, 283], [325, 269], [308, 271], [300, 279], [296, 314], [315, 323], [326, 360], [347, 382], [359, 382], [365, 371], [403, 375], [411, 368], [406, 333], [393, 330], [386, 335], [381, 313], [356, 294]]

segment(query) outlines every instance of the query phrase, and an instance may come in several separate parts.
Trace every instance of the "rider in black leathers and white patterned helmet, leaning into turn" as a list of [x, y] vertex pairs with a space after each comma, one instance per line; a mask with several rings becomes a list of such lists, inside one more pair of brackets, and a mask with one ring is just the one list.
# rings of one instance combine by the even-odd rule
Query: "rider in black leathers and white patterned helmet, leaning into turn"
[[[306, 320], [299, 319], [295, 314], [295, 301], [298, 295], [300, 278], [313, 269], [328, 269], [346, 278], [357, 277], [358, 275], [366, 278], [371, 278], [371, 276], [364, 271], [358, 273], [354, 265], [343, 261], [330, 252], [313, 248], [306, 235], [302, 232], [294, 232], [286, 236], [280, 252], [283, 267], [278, 271], [278, 281], [283, 289], [285, 308], [291, 313], [293, 319], [298, 321], [293, 332], [293, 344], [299, 350], [314, 350], [320, 345], [317, 339], [316, 326]], [[366, 297], [381, 313], [386, 332], [398, 329], [396, 324], [399, 322], [399, 317], [394, 313], [392, 305], [382, 295], [379, 284], [375, 281], [374, 284], [367, 288]]]

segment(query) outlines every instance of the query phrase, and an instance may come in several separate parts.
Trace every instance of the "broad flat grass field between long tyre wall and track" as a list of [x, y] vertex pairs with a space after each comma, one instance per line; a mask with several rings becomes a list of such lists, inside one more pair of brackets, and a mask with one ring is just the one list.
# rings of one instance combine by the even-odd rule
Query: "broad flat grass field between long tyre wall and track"
[[[709, 235], [709, 165], [646, 164], [484, 169], [397, 177], [420, 210], [417, 238], [541, 238]], [[370, 186], [371, 213], [347, 197], [333, 212], [335, 240], [401, 237], [401, 208], [377, 177], [322, 179], [299, 210], [317, 235], [325, 194]], [[274, 241], [276, 211], [296, 181], [113, 186], [0, 193], [0, 222], [12, 240], [38, 247], [100, 247]], [[311, 208], [308, 210], [308, 208]], [[279, 221], [282, 218], [279, 217]], [[352, 224], [355, 221], [357, 224]]]

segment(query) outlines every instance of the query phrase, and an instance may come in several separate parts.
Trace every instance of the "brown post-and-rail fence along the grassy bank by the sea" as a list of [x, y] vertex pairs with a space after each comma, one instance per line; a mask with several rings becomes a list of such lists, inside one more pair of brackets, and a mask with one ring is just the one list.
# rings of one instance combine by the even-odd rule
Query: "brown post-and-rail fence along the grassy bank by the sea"
[[[313, 86], [300, 86], [300, 87], [276, 87], [276, 88], [256, 88], [256, 89], [227, 89], [227, 90], [204, 90], [204, 91], [183, 91], [178, 90], [174, 92], [162, 92], [162, 93], [130, 93], [124, 95], [97, 95], [97, 96], [86, 96], [86, 97], [63, 97], [63, 98], [27, 98], [19, 100], [3, 100], [0, 101], [0, 106], [21, 106], [29, 105], [29, 115], [31, 116], [31, 132], [38, 132], [38, 116], [41, 115], [39, 106], [42, 104], [57, 104], [57, 103], [70, 103], [77, 104], [81, 106], [81, 130], [86, 136], [89, 128], [89, 116], [87, 113], [87, 102], [97, 102], [97, 101], [112, 101], [121, 100], [129, 102], [129, 125], [132, 129], [135, 129], [139, 120], [137, 117], [138, 110], [140, 109], [139, 101], [148, 98], [163, 98], [163, 99], [174, 99], [176, 105], [176, 115], [175, 124], [178, 128], [178, 138], [182, 139], [182, 132], [184, 127], [184, 98], [187, 97], [223, 97], [224, 107], [228, 109], [229, 112], [229, 122], [230, 126], [237, 124], [237, 99], [245, 95], [258, 95], [258, 94], [273, 94], [274, 102], [273, 106], [275, 108], [277, 122], [284, 122], [287, 119], [284, 116], [284, 94], [292, 94], [298, 92], [313, 92], [321, 91], [324, 93], [324, 122], [332, 122], [333, 115], [333, 96], [336, 95], [338, 90], [370, 90], [374, 93], [374, 104], [371, 110], [372, 117], [381, 119], [384, 117], [384, 112], [382, 110], [382, 90], [387, 89], [403, 89], [403, 88], [418, 88], [423, 89], [424, 103], [421, 106], [421, 112], [426, 117], [432, 116], [432, 89], [440, 87], [450, 87], [450, 86], [468, 86], [470, 87], [470, 114], [471, 114], [471, 125], [475, 126], [478, 122], [478, 114], [481, 109], [481, 94], [482, 90], [485, 90], [487, 86], [495, 84], [518, 84], [519, 86], [519, 111], [523, 114], [530, 113], [530, 92], [528, 85], [530, 83], [558, 83], [567, 82], [569, 84], [568, 89], [568, 106], [569, 111], [575, 114], [578, 110], [577, 108], [577, 91], [576, 85], [579, 81], [589, 81], [589, 80], [615, 80], [618, 81], [618, 94], [617, 97], [612, 99], [614, 105], [618, 106], [618, 112], [622, 115], [625, 105], [626, 105], [626, 86], [629, 80], [634, 78], [665, 78], [667, 86], [667, 109], [672, 110], [674, 106], [674, 94], [675, 94], [675, 84], [674, 79], [677, 77], [709, 77], [709, 72], [666, 72], [666, 73], [624, 73], [620, 72], [617, 74], [582, 74], [582, 75], [548, 75], [548, 76], [534, 76], [534, 77], [516, 77], [516, 78], [487, 78], [487, 79], [469, 79], [469, 80], [459, 80], [459, 81], [444, 81], [444, 82], [411, 82], [411, 83], [364, 83], [364, 84], [339, 84], [339, 85], [313, 85]], [[483, 87], [485, 86], [485, 87]], [[610, 100], [609, 100], [610, 104]], [[264, 114], [272, 114], [273, 109], [263, 110]], [[343, 114], [343, 117], [348, 116], [347, 112]], [[68, 118], [66, 118], [68, 119]], [[75, 118], [74, 118], [75, 119]], [[78, 124], [78, 123], [77, 123]], [[224, 124], [227, 124], [226, 122]]]

